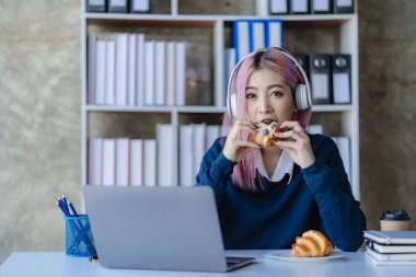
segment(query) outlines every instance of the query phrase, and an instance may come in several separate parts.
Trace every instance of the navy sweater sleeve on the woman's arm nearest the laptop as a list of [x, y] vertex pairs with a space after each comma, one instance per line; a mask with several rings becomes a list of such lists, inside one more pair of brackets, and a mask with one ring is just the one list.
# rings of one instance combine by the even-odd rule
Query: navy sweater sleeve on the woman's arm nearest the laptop
[[230, 176], [236, 164], [227, 159], [223, 153], [222, 138], [218, 138], [204, 155], [199, 173], [196, 176], [197, 185], [208, 185], [213, 189], [219, 203], [226, 186], [231, 182]]

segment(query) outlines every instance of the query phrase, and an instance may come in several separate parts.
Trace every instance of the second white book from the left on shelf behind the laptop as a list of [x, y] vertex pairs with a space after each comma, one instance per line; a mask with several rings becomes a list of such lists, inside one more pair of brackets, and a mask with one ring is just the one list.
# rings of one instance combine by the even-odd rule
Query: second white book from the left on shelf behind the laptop
[[103, 177], [102, 182], [105, 186], [115, 185], [116, 174], [116, 141], [115, 139], [103, 139]]

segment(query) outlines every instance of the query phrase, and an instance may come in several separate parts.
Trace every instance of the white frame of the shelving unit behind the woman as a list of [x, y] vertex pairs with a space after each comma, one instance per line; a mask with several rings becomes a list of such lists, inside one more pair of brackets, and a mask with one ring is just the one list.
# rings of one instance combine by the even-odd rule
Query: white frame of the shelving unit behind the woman
[[[291, 26], [299, 24], [299, 30], [302, 26], [312, 25], [315, 27], [322, 26], [323, 28], [331, 26], [338, 32], [338, 46], [339, 53], [347, 53], [351, 55], [351, 103], [350, 105], [315, 105], [313, 112], [316, 113], [336, 113], [340, 117], [340, 134], [350, 137], [351, 143], [351, 186], [354, 195], [359, 199], [359, 92], [358, 92], [358, 16], [357, 12], [354, 14], [308, 14], [308, 15], [269, 15], [267, 0], [253, 0], [256, 1], [256, 12], [253, 15], [194, 15], [194, 14], [180, 14], [178, 2], [181, 0], [171, 0], [170, 14], [115, 14], [115, 13], [86, 13], [85, 3], [82, 1], [82, 16], [81, 16], [81, 80], [82, 80], [82, 107], [81, 107], [81, 184], [86, 184], [88, 176], [88, 134], [89, 124], [88, 118], [91, 113], [166, 113], [170, 115], [171, 124], [176, 127], [180, 125], [180, 115], [186, 114], [218, 114], [219, 116], [226, 111], [224, 103], [224, 82], [223, 80], [223, 56], [224, 56], [224, 30], [227, 22], [232, 22], [238, 19], [281, 19], [285, 25]], [[355, 4], [357, 7], [357, 4]], [[357, 8], [356, 8], [357, 9]], [[210, 106], [97, 106], [88, 105], [88, 83], [86, 83], [86, 37], [90, 24], [99, 24], [111, 26], [113, 23], [125, 25], [128, 24], [152, 24], [161, 26], [175, 26], [185, 25], [187, 27], [210, 27], [213, 34], [213, 68], [212, 68], [212, 88], [213, 88], [213, 105]], [[320, 51], [320, 49], [312, 49], [311, 51]], [[176, 131], [177, 134], [177, 131]], [[174, 138], [177, 145], [177, 136]], [[176, 151], [177, 154], [177, 151]], [[176, 155], [177, 157], [177, 155]], [[174, 183], [178, 183], [177, 172], [172, 176]]]

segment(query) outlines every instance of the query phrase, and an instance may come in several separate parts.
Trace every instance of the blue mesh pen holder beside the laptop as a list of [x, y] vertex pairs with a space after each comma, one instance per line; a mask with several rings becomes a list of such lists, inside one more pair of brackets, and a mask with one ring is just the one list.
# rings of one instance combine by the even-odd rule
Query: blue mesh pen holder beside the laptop
[[86, 215], [65, 217], [66, 254], [72, 257], [96, 256], [90, 220]]

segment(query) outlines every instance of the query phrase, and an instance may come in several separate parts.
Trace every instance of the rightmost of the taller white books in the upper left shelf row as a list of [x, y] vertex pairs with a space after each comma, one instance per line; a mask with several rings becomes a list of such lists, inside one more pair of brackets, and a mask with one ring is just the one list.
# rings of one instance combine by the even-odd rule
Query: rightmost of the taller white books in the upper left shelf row
[[136, 54], [136, 105], [141, 106], [145, 103], [145, 35], [137, 36], [137, 54]]

